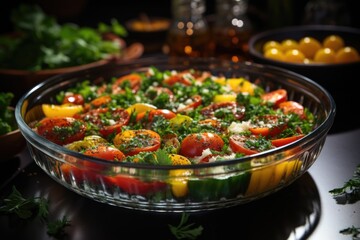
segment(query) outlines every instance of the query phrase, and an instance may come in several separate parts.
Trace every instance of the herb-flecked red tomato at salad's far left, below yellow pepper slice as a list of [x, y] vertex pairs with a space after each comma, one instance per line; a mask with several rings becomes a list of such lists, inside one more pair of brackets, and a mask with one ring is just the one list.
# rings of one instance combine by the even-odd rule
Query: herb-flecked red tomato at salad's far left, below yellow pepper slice
[[44, 118], [37, 124], [37, 133], [51, 142], [66, 145], [85, 137], [86, 125], [72, 117]]

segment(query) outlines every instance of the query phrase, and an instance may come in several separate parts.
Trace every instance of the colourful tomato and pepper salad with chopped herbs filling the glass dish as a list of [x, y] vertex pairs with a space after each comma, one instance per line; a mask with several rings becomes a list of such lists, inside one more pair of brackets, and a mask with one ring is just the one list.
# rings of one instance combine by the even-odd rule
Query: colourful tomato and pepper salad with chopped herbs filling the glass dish
[[34, 125], [49, 141], [108, 161], [151, 165], [203, 164], [241, 158], [294, 142], [314, 116], [245, 78], [208, 71], [165, 70], [84, 80], [43, 104]]

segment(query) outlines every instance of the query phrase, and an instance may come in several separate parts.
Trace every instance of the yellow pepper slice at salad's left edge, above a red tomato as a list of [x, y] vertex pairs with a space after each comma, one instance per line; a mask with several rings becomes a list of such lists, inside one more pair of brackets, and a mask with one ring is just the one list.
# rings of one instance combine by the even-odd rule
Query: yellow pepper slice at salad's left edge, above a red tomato
[[65, 103], [61, 105], [56, 104], [42, 104], [42, 110], [46, 117], [73, 117], [76, 113], [84, 110], [82, 105]]

